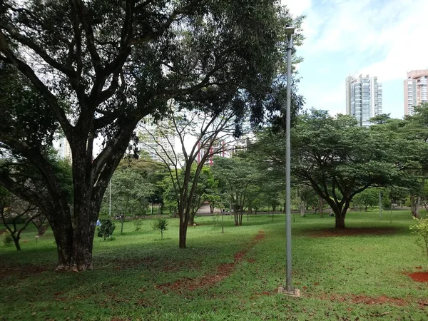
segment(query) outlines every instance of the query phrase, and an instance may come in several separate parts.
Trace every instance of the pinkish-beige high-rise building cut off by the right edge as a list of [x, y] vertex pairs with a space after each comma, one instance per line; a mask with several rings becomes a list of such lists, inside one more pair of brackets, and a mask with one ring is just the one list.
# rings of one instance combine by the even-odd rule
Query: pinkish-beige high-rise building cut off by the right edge
[[428, 102], [428, 70], [412, 70], [404, 81], [404, 115], [413, 115], [414, 106]]

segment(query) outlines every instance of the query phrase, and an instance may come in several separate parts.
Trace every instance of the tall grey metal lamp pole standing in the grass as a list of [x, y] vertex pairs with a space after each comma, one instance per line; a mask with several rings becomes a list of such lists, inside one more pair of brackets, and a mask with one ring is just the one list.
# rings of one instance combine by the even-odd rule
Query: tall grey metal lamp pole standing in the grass
[[290, 143], [290, 127], [291, 127], [291, 51], [292, 51], [292, 34], [287, 34], [287, 110], [285, 123], [285, 238], [287, 242], [287, 280], [285, 290], [293, 292], [294, 288], [291, 285], [291, 143]]

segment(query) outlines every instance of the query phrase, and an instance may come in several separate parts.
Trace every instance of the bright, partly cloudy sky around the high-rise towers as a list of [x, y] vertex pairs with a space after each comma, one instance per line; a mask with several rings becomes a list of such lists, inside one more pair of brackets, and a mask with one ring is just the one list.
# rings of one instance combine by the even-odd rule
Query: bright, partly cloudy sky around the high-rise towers
[[377, 76], [383, 113], [404, 116], [407, 72], [428, 69], [427, 0], [282, 0], [305, 15], [297, 68], [305, 108], [345, 113], [345, 78]]

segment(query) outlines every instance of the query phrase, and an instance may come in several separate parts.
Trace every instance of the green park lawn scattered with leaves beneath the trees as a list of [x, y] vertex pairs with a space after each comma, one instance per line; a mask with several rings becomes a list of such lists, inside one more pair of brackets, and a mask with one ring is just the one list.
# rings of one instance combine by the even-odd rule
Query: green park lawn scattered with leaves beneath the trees
[[[427, 283], [404, 274], [421, 265], [428, 270], [409, 231], [411, 215], [393, 211], [392, 222], [389, 215], [379, 220], [377, 211], [349, 213], [346, 223], [394, 228], [392, 233], [330, 237], [317, 233], [333, 228], [334, 218], [296, 215], [292, 281], [300, 298], [275, 292], [285, 284], [284, 215], [273, 221], [253, 215], [241, 227], [225, 216], [224, 234], [221, 220], [214, 225], [210, 217], [197, 218], [200, 225], [188, 228], [184, 250], [178, 248], [178, 220], [170, 220], [164, 240], [151, 220], [138, 232], [127, 221], [123, 235], [116, 228], [114, 240], [94, 240], [95, 268], [83, 273], [52, 272], [53, 236], [48, 231], [36, 244], [36, 230], [29, 227], [21, 253], [0, 245], [0, 320], [427, 320], [428, 307], [421, 304]], [[260, 230], [265, 238], [255, 243]], [[240, 251], [243, 259], [234, 260]], [[220, 282], [185, 286], [232, 265]], [[170, 288], [180, 282], [182, 287]], [[362, 296], [371, 303], [388, 300], [358, 303]]]

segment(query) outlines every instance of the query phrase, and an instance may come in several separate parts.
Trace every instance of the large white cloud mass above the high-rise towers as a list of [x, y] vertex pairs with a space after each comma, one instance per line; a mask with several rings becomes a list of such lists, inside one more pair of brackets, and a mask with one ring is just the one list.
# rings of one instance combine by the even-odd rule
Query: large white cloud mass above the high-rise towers
[[326, 2], [330, 6], [311, 8], [307, 14], [304, 51], [340, 53], [348, 59], [378, 57], [376, 63], [362, 63], [357, 68], [383, 81], [405, 78], [407, 71], [428, 66], [423, 22], [427, 19], [427, 0]]

